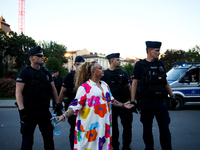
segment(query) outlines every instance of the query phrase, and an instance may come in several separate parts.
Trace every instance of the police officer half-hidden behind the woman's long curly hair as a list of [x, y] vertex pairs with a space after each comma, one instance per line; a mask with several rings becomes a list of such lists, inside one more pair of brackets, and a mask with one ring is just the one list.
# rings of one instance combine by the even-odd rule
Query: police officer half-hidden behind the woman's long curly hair
[[[80, 66], [82, 62], [85, 62], [82, 56], [77, 56], [75, 58], [75, 63], [74, 66], [76, 70]], [[64, 83], [61, 88], [61, 92], [59, 95], [59, 102], [62, 103], [64, 96], [67, 97], [65, 100], [65, 111], [68, 109], [68, 105], [72, 102], [72, 100], [75, 98], [75, 91], [74, 91], [74, 76], [75, 76], [76, 71], [71, 70], [70, 73], [68, 73], [64, 79]], [[71, 150], [74, 149], [74, 131], [75, 131], [75, 126], [76, 126], [76, 116], [73, 115], [68, 118], [68, 123], [70, 124], [70, 134], [69, 134], [69, 140], [70, 140], [70, 147]]]

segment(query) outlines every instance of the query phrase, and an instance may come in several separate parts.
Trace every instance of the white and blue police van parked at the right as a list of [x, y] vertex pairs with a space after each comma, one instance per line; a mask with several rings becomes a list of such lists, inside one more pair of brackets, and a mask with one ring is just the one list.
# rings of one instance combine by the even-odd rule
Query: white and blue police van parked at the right
[[181, 109], [188, 102], [199, 103], [200, 62], [174, 62], [172, 66], [172, 69], [167, 72], [167, 81], [176, 96], [175, 109]]

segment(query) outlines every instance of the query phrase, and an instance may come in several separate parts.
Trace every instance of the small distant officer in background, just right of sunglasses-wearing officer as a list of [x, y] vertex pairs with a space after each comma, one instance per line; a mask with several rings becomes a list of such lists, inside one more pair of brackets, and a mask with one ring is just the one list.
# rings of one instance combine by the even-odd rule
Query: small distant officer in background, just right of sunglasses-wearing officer
[[[62, 83], [63, 83], [63, 79], [61, 76], [59, 76], [59, 71], [58, 70], [54, 70], [54, 76], [52, 78], [54, 84], [55, 84], [55, 87], [56, 87], [56, 90], [57, 90], [57, 93], [58, 93], [58, 96], [60, 94], [60, 90], [61, 90], [61, 87], [62, 87]], [[56, 107], [56, 102], [55, 100], [53, 99], [53, 109], [55, 109]]]

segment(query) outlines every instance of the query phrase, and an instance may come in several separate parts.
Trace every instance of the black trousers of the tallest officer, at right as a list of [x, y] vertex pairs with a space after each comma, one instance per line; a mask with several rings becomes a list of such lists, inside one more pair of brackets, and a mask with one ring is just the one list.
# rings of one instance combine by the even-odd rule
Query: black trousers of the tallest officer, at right
[[143, 140], [146, 146], [145, 150], [154, 150], [152, 134], [154, 116], [158, 122], [162, 150], [171, 150], [171, 133], [169, 131], [170, 117], [166, 102], [162, 99], [154, 100], [142, 98], [140, 120], [143, 124]]

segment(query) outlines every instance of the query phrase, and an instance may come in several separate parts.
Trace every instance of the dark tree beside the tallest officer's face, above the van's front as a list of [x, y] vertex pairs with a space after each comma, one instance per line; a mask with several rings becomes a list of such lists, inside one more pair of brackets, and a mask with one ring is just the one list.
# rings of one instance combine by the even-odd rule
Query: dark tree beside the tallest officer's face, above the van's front
[[163, 61], [165, 65], [166, 72], [169, 71], [172, 67], [172, 63], [176, 61], [186, 61], [185, 51], [183, 50], [167, 50], [164, 54], [160, 56], [160, 60]]

